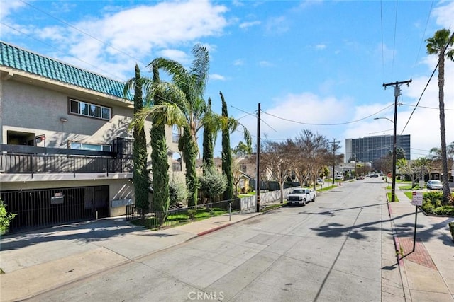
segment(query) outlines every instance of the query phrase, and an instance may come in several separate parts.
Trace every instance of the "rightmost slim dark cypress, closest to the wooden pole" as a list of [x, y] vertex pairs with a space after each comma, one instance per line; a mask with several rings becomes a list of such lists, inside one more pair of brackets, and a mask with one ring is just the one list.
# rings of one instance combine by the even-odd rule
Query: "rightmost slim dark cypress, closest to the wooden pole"
[[226, 190], [224, 191], [224, 200], [233, 199], [233, 172], [232, 172], [232, 150], [230, 149], [230, 132], [233, 131], [233, 124], [229, 124], [227, 103], [221, 92], [222, 117], [225, 124], [222, 127], [222, 173], [226, 176]]

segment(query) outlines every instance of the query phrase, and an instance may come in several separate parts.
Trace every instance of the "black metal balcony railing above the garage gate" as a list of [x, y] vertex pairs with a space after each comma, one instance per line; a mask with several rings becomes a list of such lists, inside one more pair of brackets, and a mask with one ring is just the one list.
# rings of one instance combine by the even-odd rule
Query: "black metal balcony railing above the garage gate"
[[131, 156], [114, 152], [0, 145], [1, 173], [131, 173]]

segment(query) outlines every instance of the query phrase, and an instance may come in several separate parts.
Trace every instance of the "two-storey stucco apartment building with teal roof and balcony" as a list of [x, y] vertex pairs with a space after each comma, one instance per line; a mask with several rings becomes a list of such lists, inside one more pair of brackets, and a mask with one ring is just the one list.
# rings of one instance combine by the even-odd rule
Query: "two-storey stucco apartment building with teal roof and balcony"
[[[123, 87], [0, 42], [0, 194], [17, 214], [10, 231], [126, 214], [135, 202], [133, 100]], [[149, 130], [146, 121], [148, 153]], [[166, 128], [170, 173], [183, 179], [174, 132]]]

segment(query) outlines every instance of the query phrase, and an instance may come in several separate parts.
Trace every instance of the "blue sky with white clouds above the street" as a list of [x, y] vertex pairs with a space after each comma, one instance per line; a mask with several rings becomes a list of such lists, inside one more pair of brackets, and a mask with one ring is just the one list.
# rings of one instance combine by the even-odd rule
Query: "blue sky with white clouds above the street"
[[[411, 135], [411, 159], [440, 148], [437, 56], [426, 39], [454, 30], [454, 1], [52, 1], [0, 0], [0, 40], [118, 81], [157, 57], [189, 68], [210, 54], [205, 98], [257, 140], [303, 129], [336, 141]], [[454, 142], [454, 62], [445, 63], [446, 141]], [[375, 117], [382, 119], [375, 120]], [[202, 137], [202, 133], [199, 134]], [[391, 147], [390, 147], [391, 148]], [[215, 156], [220, 156], [221, 139]], [[347, 158], [348, 159], [348, 158]]]

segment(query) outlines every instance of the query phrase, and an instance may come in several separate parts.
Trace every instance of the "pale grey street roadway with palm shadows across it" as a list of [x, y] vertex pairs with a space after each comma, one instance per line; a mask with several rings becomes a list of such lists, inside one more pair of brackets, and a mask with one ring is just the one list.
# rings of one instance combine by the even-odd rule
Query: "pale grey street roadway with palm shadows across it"
[[339, 186], [30, 300], [381, 301], [383, 190]]

